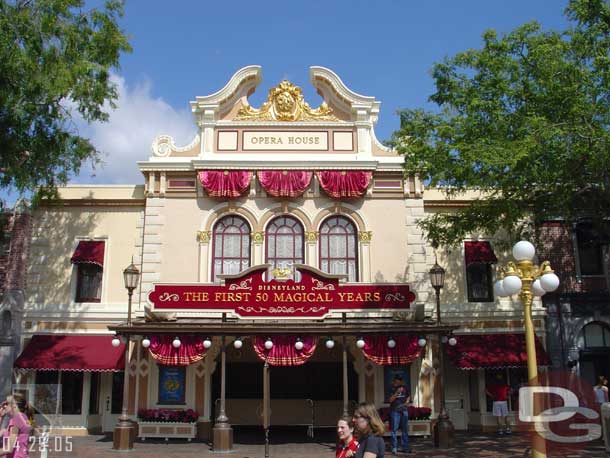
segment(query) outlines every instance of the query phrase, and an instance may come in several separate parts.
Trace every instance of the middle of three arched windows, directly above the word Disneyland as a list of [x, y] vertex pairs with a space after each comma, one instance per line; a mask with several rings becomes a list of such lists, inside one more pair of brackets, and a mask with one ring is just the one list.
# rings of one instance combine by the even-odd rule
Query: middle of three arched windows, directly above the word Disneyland
[[266, 258], [272, 269], [304, 263], [303, 226], [297, 219], [279, 216], [272, 220], [267, 226], [266, 242]]

